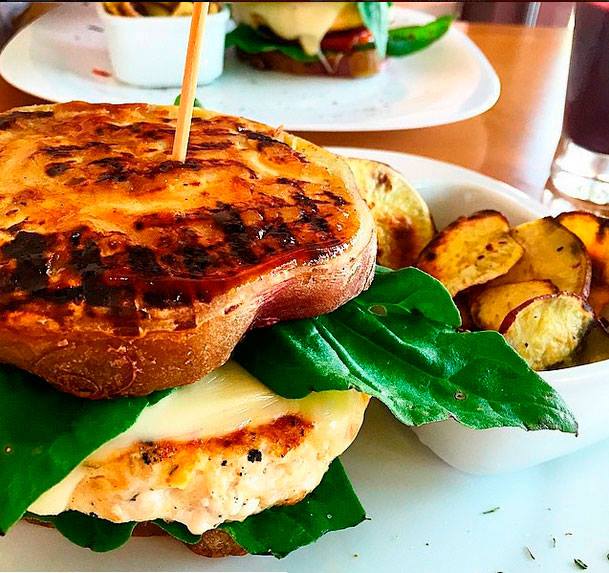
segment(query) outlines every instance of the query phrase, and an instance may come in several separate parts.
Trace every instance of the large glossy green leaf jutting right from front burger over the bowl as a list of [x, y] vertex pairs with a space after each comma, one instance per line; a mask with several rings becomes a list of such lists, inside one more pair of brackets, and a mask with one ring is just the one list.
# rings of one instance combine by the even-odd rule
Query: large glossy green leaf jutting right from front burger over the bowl
[[560, 396], [501, 335], [458, 324], [438, 281], [413, 268], [382, 271], [331, 314], [250, 332], [235, 358], [282, 396], [355, 388], [407, 425], [454, 418], [476, 429], [577, 431]]

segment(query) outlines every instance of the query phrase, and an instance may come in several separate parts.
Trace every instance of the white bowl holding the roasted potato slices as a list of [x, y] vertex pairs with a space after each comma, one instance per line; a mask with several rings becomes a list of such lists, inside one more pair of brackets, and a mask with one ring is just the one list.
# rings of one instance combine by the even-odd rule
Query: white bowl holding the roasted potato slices
[[[429, 205], [440, 229], [479, 209], [501, 211], [513, 225], [548, 214], [541, 203], [510, 185], [456, 165], [370, 149], [333, 151], [383, 161], [403, 173]], [[579, 424], [577, 436], [520, 428], [471, 430], [454, 420], [413, 430], [445, 462], [473, 474], [519, 470], [609, 438], [609, 360], [539, 374], [575, 415]]]

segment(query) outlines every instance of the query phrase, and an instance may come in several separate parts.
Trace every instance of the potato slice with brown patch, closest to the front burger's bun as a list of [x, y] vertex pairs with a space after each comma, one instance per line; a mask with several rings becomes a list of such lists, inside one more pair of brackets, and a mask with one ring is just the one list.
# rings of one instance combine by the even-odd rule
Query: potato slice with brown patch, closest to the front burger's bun
[[413, 265], [436, 234], [427, 204], [389, 165], [359, 158], [347, 158], [347, 163], [376, 224], [378, 264], [390, 269]]

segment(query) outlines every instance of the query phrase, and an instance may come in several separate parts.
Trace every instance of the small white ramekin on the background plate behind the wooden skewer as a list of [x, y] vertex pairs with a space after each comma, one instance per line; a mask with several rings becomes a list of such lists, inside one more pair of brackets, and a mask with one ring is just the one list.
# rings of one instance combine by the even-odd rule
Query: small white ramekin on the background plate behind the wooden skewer
[[[96, 2], [108, 42], [114, 76], [145, 88], [182, 84], [190, 16], [114, 16]], [[209, 14], [205, 24], [198, 84], [209, 84], [224, 69], [224, 40], [229, 20], [226, 6]]]

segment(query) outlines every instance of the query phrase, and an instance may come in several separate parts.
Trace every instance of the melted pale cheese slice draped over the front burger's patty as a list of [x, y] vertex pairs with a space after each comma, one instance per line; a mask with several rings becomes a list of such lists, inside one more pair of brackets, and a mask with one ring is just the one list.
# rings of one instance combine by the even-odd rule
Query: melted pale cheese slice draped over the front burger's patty
[[205, 378], [175, 390], [146, 408], [126, 432], [101, 446], [81, 466], [45, 492], [30, 507], [37, 515], [57, 515], [68, 507], [84, 475], [87, 461], [99, 461], [139, 442], [187, 441], [230, 434], [246, 426], [270, 423], [297, 414], [332, 432], [336, 420], [361, 410], [362, 395], [354, 390], [313, 392], [305, 398], [282, 398], [234, 362]]

